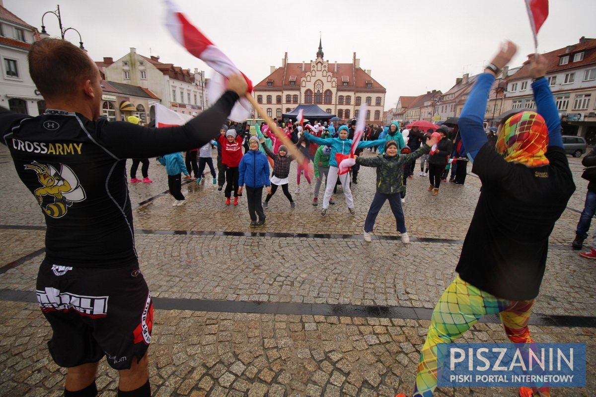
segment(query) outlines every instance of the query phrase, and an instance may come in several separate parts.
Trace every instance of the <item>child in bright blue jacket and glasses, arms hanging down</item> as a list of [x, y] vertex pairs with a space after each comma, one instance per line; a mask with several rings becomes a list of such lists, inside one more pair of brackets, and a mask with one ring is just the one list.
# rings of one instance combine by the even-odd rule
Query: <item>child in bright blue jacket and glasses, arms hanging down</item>
[[[242, 194], [242, 186], [246, 185], [246, 199], [249, 204], [250, 227], [265, 226], [265, 212], [261, 202], [263, 186], [271, 193], [271, 182], [269, 181], [269, 161], [263, 152], [259, 151], [259, 139], [249, 139], [249, 151], [247, 151], [240, 165], [238, 165], [238, 195]], [[259, 220], [257, 221], [257, 215]]]

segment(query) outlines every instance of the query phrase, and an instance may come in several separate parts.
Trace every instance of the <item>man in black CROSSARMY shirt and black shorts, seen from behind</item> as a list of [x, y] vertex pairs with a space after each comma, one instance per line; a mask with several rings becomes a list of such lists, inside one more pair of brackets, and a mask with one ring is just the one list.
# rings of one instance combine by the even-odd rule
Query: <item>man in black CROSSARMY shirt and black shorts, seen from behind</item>
[[119, 370], [119, 396], [149, 396], [153, 303], [135, 250], [126, 159], [215, 139], [247, 83], [231, 76], [209, 110], [184, 126], [158, 130], [100, 118], [99, 70], [69, 42], [34, 43], [29, 70], [48, 110], [30, 117], [0, 108], [0, 142], [45, 215], [46, 256], [36, 292], [53, 330], [52, 358], [69, 368], [65, 396], [97, 395], [104, 355]]

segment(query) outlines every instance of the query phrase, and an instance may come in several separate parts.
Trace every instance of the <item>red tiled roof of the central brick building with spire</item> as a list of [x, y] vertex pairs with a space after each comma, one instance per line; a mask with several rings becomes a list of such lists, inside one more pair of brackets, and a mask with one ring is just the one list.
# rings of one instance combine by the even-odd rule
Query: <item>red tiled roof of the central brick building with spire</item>
[[[385, 90], [376, 80], [373, 79], [366, 71], [361, 68], [354, 68], [353, 64], [337, 64], [337, 72], [335, 71], [335, 63], [328, 63], [328, 71], [331, 76], [337, 79], [337, 90], [371, 90], [380, 91]], [[257, 90], [278, 90], [278, 89], [300, 89], [300, 78], [306, 77], [306, 73], [311, 71], [311, 62], [305, 62], [302, 70], [302, 63], [287, 63], [285, 67], [278, 67], [275, 71], [259, 83], [254, 85]], [[290, 85], [290, 77], [296, 76], [296, 85]], [[347, 77], [347, 86], [342, 85], [342, 78]], [[354, 81], [356, 79], [356, 81]], [[273, 85], [268, 86], [267, 82], [273, 80]], [[373, 86], [367, 87], [367, 81], [370, 81]]]

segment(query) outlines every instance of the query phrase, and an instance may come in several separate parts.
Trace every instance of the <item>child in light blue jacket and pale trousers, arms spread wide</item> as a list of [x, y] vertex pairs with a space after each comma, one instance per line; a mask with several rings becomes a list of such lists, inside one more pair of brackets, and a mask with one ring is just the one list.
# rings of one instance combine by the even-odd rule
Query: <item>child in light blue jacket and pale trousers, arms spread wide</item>
[[[318, 143], [318, 145], [331, 146], [331, 157], [329, 159], [329, 173], [327, 174], [327, 185], [325, 185], [325, 195], [323, 196], [323, 209], [321, 211], [322, 217], [324, 217], [327, 214], [329, 200], [331, 199], [331, 195], [333, 195], [333, 188], [336, 185], [338, 177], [340, 182], [342, 183], [343, 194], [344, 196], [346, 196], [347, 210], [350, 211], [350, 214], [352, 215], [356, 214], [356, 212], [354, 211], [352, 191], [350, 190], [350, 174], [345, 173], [342, 175], [338, 175], [337, 173], [339, 172], [339, 166], [337, 165], [336, 160], [336, 154], [350, 154], [350, 148], [352, 148], [352, 140], [347, 139], [347, 126], [339, 127], [339, 130], [337, 130], [337, 132], [339, 133], [339, 137], [327, 139], [316, 137], [314, 135], [309, 134], [308, 132], [305, 132], [303, 135], [306, 140]], [[384, 142], [385, 141], [383, 139], [361, 141], [358, 142], [358, 148], [372, 148], [373, 146], [378, 146]]]

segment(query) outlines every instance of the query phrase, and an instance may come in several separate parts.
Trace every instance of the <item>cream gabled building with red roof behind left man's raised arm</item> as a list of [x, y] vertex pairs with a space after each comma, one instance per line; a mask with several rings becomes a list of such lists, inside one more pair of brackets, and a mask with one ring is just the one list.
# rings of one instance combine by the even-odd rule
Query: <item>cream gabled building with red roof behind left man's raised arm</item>
[[95, 62], [105, 80], [139, 86], [150, 90], [162, 105], [182, 114], [197, 114], [205, 108], [205, 73], [183, 69], [159, 61], [159, 57], [144, 57], [135, 48], [114, 61], [105, 57]]

